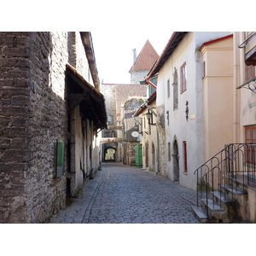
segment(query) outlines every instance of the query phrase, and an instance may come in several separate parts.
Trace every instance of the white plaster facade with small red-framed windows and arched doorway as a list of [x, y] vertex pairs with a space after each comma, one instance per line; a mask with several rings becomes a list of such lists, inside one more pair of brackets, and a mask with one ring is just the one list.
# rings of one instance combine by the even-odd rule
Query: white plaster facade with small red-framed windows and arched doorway
[[[165, 129], [165, 133], [160, 132], [160, 143], [162, 143], [163, 152], [166, 154], [160, 157], [160, 161], [162, 161], [160, 173], [171, 180], [178, 180], [181, 185], [189, 189], [196, 189], [194, 172], [205, 162], [203, 65], [202, 55], [198, 49], [204, 42], [224, 37], [229, 33], [187, 32], [181, 42], [177, 44], [172, 55], [160, 67], [156, 105], [159, 116], [158, 125]], [[184, 63], [187, 67], [187, 89], [181, 93], [180, 68]], [[173, 109], [175, 69], [177, 70], [178, 102], [177, 108]], [[168, 80], [170, 96], [167, 93]], [[185, 113], [186, 102], [188, 102], [189, 108], [188, 119], [186, 119]], [[185, 146], [187, 170], [185, 170], [184, 163]]]

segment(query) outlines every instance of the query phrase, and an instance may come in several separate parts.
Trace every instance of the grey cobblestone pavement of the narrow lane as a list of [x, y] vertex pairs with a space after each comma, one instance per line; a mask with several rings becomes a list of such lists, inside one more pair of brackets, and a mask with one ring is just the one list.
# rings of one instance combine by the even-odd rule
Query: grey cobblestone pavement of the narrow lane
[[51, 224], [197, 224], [196, 192], [138, 167], [102, 163], [84, 185], [82, 198], [51, 218]]

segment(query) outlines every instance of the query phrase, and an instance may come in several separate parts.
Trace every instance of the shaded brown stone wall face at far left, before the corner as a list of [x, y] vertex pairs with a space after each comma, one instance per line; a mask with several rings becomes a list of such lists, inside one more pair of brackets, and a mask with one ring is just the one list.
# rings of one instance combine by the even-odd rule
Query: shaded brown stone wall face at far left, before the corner
[[28, 36], [0, 33], [0, 223], [27, 219]]

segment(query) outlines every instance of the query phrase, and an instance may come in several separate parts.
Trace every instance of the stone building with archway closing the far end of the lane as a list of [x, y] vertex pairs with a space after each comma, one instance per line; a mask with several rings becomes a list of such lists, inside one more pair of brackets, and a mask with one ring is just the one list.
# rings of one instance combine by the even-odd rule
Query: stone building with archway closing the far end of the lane
[[135, 162], [136, 138], [131, 137], [135, 121], [132, 117], [147, 96], [146, 84], [102, 84], [106, 98], [108, 129], [102, 131], [102, 161], [106, 150], [115, 150], [116, 161], [132, 165]]

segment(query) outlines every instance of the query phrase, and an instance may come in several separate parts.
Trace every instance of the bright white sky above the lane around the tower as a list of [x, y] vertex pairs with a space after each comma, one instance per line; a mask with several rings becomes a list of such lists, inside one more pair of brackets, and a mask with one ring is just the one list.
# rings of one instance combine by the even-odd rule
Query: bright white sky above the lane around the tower
[[99, 79], [104, 84], [130, 84], [132, 49], [137, 49], [139, 55], [148, 40], [160, 55], [171, 36], [171, 31], [147, 32], [143, 29], [91, 31]]

